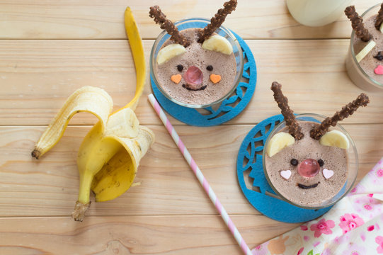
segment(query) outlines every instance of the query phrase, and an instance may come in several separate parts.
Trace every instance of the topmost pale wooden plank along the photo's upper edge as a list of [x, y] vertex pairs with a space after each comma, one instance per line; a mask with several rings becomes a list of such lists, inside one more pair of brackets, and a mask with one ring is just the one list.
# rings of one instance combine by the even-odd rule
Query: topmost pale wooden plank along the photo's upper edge
[[[123, 13], [130, 5], [143, 38], [156, 38], [160, 28], [149, 18], [149, 6], [159, 4], [172, 21], [211, 18], [224, 1], [38, 1], [3, 0], [0, 8], [0, 38], [3, 39], [125, 39]], [[377, 4], [355, 1], [358, 13]], [[349, 38], [350, 21], [344, 15], [328, 26], [302, 26], [290, 15], [285, 1], [239, 1], [225, 21], [246, 39], [255, 38]]]

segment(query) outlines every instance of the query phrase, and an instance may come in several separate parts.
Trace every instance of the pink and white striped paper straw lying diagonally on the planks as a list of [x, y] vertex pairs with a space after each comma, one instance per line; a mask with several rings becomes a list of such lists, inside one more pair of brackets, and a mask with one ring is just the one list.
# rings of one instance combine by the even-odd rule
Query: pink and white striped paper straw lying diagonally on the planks
[[248, 249], [246, 242], [244, 241], [238, 229], [236, 229], [236, 226], [234, 225], [233, 221], [230, 219], [229, 215], [227, 214], [227, 211], [224, 210], [224, 207], [219, 202], [217, 196], [215, 195], [215, 192], [212, 190], [212, 187], [210, 187], [209, 183], [205, 179], [205, 176], [203, 176], [200, 168], [197, 166], [197, 164], [195, 164], [193, 157], [191, 157], [188, 149], [186, 149], [185, 145], [183, 145], [183, 142], [178, 136], [176, 130], [174, 130], [173, 125], [171, 125], [164, 111], [162, 111], [162, 108], [159, 105], [159, 102], [156, 101], [156, 98], [154, 98], [153, 94], [150, 94], [148, 98], [149, 98], [149, 102], [152, 104], [157, 115], [159, 115], [159, 118], [161, 118], [162, 123], [164, 123], [166, 129], [168, 130], [169, 134], [173, 138], [174, 142], [176, 142], [178, 149], [180, 149], [181, 153], [183, 154], [183, 157], [185, 157], [189, 166], [193, 170], [193, 173], [195, 174], [195, 176], [197, 176], [197, 179], [198, 181], [200, 181], [203, 189], [206, 191], [207, 195], [209, 195], [210, 200], [212, 200], [212, 203], [214, 203], [215, 208], [217, 208], [219, 214], [221, 215], [222, 219], [226, 223], [227, 227], [229, 227], [231, 234], [233, 234], [234, 238], [236, 239], [236, 242], [238, 242], [242, 251], [244, 251], [244, 254], [252, 255], [250, 249]]

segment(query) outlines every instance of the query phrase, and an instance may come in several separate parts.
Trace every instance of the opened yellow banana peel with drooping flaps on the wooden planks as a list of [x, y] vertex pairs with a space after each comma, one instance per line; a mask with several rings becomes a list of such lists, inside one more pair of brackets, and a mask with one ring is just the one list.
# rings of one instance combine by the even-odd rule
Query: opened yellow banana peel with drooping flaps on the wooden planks
[[[129, 7], [125, 10], [125, 29], [137, 75], [136, 92], [132, 101], [111, 115], [109, 115], [113, 108], [113, 103], [110, 106], [111, 98], [110, 101], [106, 100], [108, 103], [104, 103], [99, 108], [94, 107], [92, 110], [88, 109], [90, 107], [88, 105], [97, 105], [98, 101], [91, 100], [83, 103], [70, 100], [69, 103], [64, 103], [62, 111], [45, 131], [55, 134], [59, 130], [61, 135], [53, 137], [44, 133], [33, 151], [33, 155], [39, 157], [52, 148], [62, 137], [69, 122], [69, 116], [72, 117], [79, 111], [88, 111], [98, 117], [98, 123], [93, 125], [84, 137], [77, 157], [80, 187], [79, 198], [72, 212], [72, 218], [76, 221], [84, 220], [85, 212], [91, 204], [91, 190], [95, 193], [96, 201], [101, 202], [117, 198], [132, 186], [139, 161], [154, 142], [154, 133], [149, 128], [139, 125], [134, 112], [144, 90], [146, 65], [142, 41]], [[82, 91], [80, 93], [82, 97], [87, 97], [89, 88], [94, 87], [79, 89]], [[79, 94], [79, 91], [75, 91], [74, 94]], [[105, 109], [108, 110], [108, 114], [105, 114]]]

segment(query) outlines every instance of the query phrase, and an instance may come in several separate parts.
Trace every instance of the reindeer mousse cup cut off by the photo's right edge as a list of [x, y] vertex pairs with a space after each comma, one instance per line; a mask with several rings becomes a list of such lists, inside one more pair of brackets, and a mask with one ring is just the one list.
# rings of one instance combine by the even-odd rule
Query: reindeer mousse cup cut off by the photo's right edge
[[365, 91], [383, 91], [381, 8], [381, 4], [372, 6], [362, 16], [358, 15], [354, 6], [345, 9], [353, 26], [345, 67], [353, 83]]

